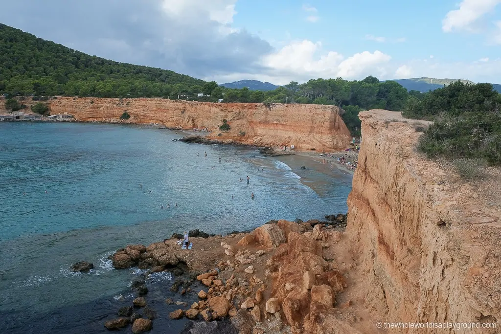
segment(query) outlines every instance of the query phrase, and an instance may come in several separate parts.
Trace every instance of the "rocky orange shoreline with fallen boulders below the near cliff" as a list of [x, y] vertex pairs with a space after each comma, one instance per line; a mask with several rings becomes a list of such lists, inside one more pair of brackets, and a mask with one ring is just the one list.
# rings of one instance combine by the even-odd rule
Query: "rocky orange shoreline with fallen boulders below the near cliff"
[[145, 299], [145, 278], [168, 271], [178, 277], [170, 291], [198, 298], [191, 304], [164, 301], [179, 305], [170, 319], [190, 319], [183, 333], [320, 333], [326, 327], [316, 319], [335, 318], [336, 294], [347, 287], [326, 251], [341, 240], [346, 221], [346, 214], [326, 216], [326, 221], [272, 220], [252, 232], [225, 236], [194, 230], [189, 232], [192, 250], [180, 248], [177, 239], [183, 236], [176, 233], [149, 246], [127, 245], [110, 256], [113, 267], [148, 271], [131, 284], [132, 304], [105, 326], [132, 324], [135, 334], [150, 330], [153, 320], [166, 314], [157, 314]]

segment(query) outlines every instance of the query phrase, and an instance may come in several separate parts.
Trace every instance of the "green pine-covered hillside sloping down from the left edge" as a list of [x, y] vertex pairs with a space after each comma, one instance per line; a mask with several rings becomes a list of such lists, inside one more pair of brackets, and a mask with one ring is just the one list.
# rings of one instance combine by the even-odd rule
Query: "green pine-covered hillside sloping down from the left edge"
[[[0, 92], [99, 97], [174, 96], [205, 81], [89, 56], [0, 24]], [[196, 87], [198, 86], [198, 87]]]

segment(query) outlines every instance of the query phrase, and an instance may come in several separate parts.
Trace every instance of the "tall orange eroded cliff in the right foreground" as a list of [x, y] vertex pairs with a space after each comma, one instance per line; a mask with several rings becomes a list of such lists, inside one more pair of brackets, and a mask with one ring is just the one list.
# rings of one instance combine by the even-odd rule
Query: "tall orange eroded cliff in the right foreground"
[[[453, 170], [417, 153], [419, 121], [382, 110], [359, 117], [363, 142], [345, 234], [365, 306], [389, 322], [501, 319], [499, 198], [483, 196]], [[497, 328], [388, 332], [494, 333], [500, 322]]]

